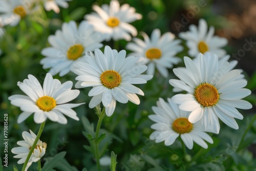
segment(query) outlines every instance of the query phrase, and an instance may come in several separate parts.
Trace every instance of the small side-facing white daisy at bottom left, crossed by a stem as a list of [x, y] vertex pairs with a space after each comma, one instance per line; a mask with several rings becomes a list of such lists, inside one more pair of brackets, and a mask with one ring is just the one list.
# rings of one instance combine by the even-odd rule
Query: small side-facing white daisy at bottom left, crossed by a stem
[[[19, 147], [14, 147], [11, 150], [11, 152], [16, 155], [16, 156], [13, 156], [14, 158], [20, 158], [18, 160], [18, 164], [25, 163], [26, 158], [29, 154], [30, 148], [33, 146], [33, 143], [35, 141], [36, 135], [31, 130], [29, 131], [30, 133], [26, 131], [22, 133], [22, 137], [24, 140], [17, 142]], [[41, 159], [42, 156], [45, 155], [46, 147], [47, 147], [47, 144], [45, 142], [38, 140], [25, 170], [28, 170], [32, 162], [37, 162], [38, 160]]]

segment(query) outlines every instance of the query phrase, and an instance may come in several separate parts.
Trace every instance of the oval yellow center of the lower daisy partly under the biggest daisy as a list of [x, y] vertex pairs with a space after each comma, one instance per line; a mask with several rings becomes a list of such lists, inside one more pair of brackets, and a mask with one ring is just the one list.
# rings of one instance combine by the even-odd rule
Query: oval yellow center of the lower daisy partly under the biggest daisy
[[179, 134], [189, 133], [193, 129], [193, 124], [187, 118], [178, 118], [173, 123], [173, 130]]

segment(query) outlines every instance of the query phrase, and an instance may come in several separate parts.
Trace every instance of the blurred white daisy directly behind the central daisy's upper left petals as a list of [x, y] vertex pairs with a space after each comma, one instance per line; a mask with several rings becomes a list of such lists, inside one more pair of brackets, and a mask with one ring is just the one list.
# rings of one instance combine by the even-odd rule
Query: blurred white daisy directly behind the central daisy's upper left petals
[[51, 68], [49, 73], [59, 76], [66, 75], [72, 71], [76, 61], [81, 60], [85, 52], [101, 48], [100, 43], [104, 36], [95, 32], [92, 25], [83, 21], [77, 27], [74, 21], [63, 23], [62, 30], [57, 30], [55, 35], [48, 37], [52, 47], [45, 48], [41, 54], [46, 56], [41, 59], [42, 68]]

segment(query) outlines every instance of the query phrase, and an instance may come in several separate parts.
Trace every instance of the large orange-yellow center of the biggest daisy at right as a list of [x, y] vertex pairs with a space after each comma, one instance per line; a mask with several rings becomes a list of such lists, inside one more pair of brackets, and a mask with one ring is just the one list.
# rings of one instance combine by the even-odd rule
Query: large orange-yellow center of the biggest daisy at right
[[203, 83], [195, 90], [195, 98], [203, 106], [212, 106], [219, 100], [218, 90], [209, 83]]

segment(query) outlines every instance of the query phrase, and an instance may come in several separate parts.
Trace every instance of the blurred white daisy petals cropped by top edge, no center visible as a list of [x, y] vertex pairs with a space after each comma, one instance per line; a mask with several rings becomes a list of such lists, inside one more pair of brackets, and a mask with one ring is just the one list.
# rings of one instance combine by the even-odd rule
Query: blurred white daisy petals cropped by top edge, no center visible
[[68, 8], [69, 4], [67, 1], [72, 1], [72, 0], [44, 0], [44, 7], [46, 11], [51, 11], [53, 10], [56, 13], [59, 13], [59, 7], [62, 8]]

